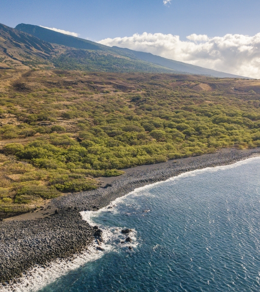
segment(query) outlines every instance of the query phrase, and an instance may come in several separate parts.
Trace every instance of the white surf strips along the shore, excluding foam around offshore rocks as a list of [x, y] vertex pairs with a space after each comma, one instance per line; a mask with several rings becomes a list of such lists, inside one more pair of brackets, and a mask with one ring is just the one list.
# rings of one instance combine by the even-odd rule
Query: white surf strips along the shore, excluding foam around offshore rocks
[[[228, 165], [220, 165], [215, 167], [206, 167], [203, 169], [195, 169], [188, 172], [184, 172], [178, 176], [171, 177], [165, 181], [160, 181], [152, 184], [147, 184], [145, 186], [136, 188], [134, 191], [115, 199], [112, 201], [108, 206], [98, 210], [98, 211], [83, 211], [81, 212], [81, 215], [84, 220], [87, 220], [90, 225], [95, 224], [91, 220], [92, 212], [95, 212], [96, 214], [99, 212], [105, 212], [108, 211], [108, 207], [112, 205], [116, 205], [119, 202], [123, 202], [123, 200], [130, 195], [141, 195], [141, 191], [144, 189], [150, 189], [153, 188], [157, 184], [162, 184], [165, 182], [178, 180], [184, 177], [189, 176], [195, 176], [200, 173], [204, 173], [207, 171], [215, 172], [219, 170], [225, 170], [225, 169], [231, 169], [234, 167], [238, 167], [243, 164], [247, 164], [248, 162], [252, 160], [260, 160], [260, 157], [252, 157], [247, 158], [245, 160], [241, 160], [238, 162], [235, 162], [233, 164]], [[11, 283], [7, 286], [0, 286], [1, 292], [13, 292], [14, 290], [16, 292], [36, 292], [45, 286], [51, 284], [56, 279], [60, 278], [61, 276], [64, 276], [68, 274], [70, 271], [75, 270], [86, 264], [87, 262], [94, 261], [99, 259], [104, 255], [104, 253], [107, 251], [99, 251], [97, 250], [97, 243], [93, 242], [92, 246], [88, 246], [86, 251], [82, 254], [76, 256], [75, 258], [71, 260], [56, 260], [49, 264], [48, 267], [42, 268], [42, 267], [34, 267], [30, 269], [24, 276], [19, 278], [18, 283]], [[36, 270], [36, 271], [35, 271]]]

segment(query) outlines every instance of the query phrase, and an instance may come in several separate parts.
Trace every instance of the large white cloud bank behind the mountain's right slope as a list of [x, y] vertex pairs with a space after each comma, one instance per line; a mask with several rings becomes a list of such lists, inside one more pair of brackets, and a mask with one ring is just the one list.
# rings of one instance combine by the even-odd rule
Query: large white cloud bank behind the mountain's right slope
[[106, 38], [99, 43], [159, 55], [226, 73], [260, 78], [260, 33], [253, 37], [192, 34], [187, 40], [161, 33]]

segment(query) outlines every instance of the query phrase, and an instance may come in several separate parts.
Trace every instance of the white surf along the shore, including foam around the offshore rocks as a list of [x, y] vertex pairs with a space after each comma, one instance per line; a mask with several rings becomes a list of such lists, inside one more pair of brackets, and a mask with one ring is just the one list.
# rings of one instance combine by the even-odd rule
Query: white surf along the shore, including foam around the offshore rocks
[[[98, 211], [84, 211], [81, 212], [81, 215], [84, 220], [87, 220], [87, 222], [90, 225], [97, 225], [94, 222], [94, 218], [98, 217], [102, 212], [112, 212], [116, 214], [118, 212], [117, 205], [121, 203], [125, 203], [125, 199], [128, 196], [132, 196], [133, 198], [135, 196], [141, 196], [144, 195], [146, 192], [142, 192], [143, 190], [148, 190], [153, 188], [157, 184], [162, 184], [169, 181], [179, 180], [181, 178], [190, 177], [190, 176], [196, 176], [198, 174], [204, 173], [204, 172], [216, 172], [220, 170], [226, 170], [238, 167], [243, 164], [247, 164], [248, 162], [252, 160], [260, 160], [260, 157], [253, 157], [249, 158], [243, 161], [236, 162], [234, 164], [229, 165], [223, 165], [223, 166], [215, 166], [215, 167], [207, 167], [203, 169], [197, 169], [192, 170], [189, 172], [182, 173], [178, 176], [172, 177], [166, 181], [161, 181], [157, 183], [147, 184], [145, 186], [136, 188], [134, 191], [126, 194], [125, 196], [121, 198], [117, 198], [116, 200], [112, 201], [108, 206], [98, 210]], [[151, 196], [151, 194], [149, 194]], [[112, 207], [112, 208], [111, 208]], [[36, 292], [40, 289], [44, 288], [48, 284], [54, 282], [59, 277], [68, 274], [70, 271], [75, 270], [86, 264], [87, 262], [94, 261], [99, 259], [100, 257], [104, 256], [105, 253], [110, 251], [116, 251], [117, 247], [123, 247], [122, 243], [117, 243], [115, 245], [115, 242], [122, 242], [125, 239], [125, 235], [122, 235], [121, 228], [119, 227], [105, 227], [103, 228], [103, 239], [104, 242], [101, 243], [101, 247], [103, 250], [97, 250], [98, 243], [93, 242], [93, 244], [80, 255], [75, 256], [73, 259], [70, 260], [56, 260], [49, 264], [48, 267], [34, 267], [33, 269], [29, 270], [27, 274], [22, 276], [19, 279], [19, 282], [17, 284], [9, 284], [7, 286], [0, 286], [1, 292]], [[133, 239], [133, 242], [131, 242], [132, 247], [137, 247], [139, 245], [139, 242], [137, 240], [137, 232], [133, 229], [131, 233], [131, 238]], [[113, 244], [114, 243], [114, 244]], [[154, 247], [156, 249], [157, 246]]]

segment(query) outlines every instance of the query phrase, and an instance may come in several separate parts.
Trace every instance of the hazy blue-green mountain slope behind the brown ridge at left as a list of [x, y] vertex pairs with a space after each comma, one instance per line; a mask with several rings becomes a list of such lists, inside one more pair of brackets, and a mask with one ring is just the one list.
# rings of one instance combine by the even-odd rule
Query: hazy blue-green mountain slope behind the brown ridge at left
[[[71, 49], [67, 50], [58, 57], [57, 61], [54, 61], [54, 65], [62, 69], [95, 71], [96, 68], [98, 68], [98, 70], [102, 70], [103, 68], [102, 71], [106, 72], [119, 72], [121, 70], [121, 72], [144, 71], [166, 73], [168, 71], [210, 75], [221, 78], [247, 78], [170, 60], [150, 53], [137, 52], [119, 47], [110, 48], [86, 39], [54, 32], [37, 25], [21, 23], [16, 26], [16, 29], [49, 43], [80, 49], [79, 51]], [[110, 65], [107, 66], [107, 63]]]

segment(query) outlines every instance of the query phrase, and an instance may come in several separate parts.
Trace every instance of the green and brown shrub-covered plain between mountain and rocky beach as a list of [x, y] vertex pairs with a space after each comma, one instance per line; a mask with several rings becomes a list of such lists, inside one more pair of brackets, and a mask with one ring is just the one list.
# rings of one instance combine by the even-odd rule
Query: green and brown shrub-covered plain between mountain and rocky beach
[[94, 189], [96, 177], [126, 167], [258, 147], [258, 86], [191, 75], [24, 72], [0, 91], [0, 212]]

